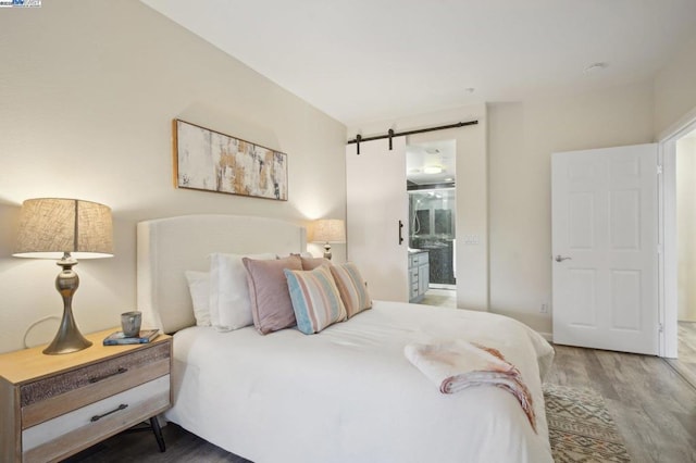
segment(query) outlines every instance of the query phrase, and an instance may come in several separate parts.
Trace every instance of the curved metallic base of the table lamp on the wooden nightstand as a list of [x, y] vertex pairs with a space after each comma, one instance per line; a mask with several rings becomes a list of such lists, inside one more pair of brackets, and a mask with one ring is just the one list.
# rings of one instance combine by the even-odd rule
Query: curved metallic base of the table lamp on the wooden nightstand
[[55, 289], [63, 297], [63, 318], [53, 341], [44, 349], [44, 353], [48, 355], [77, 352], [91, 346], [91, 341], [85, 339], [77, 329], [73, 317], [73, 295], [79, 286], [79, 278], [73, 271], [73, 265], [77, 265], [77, 261], [66, 252], [57, 264], [63, 267], [55, 277]]

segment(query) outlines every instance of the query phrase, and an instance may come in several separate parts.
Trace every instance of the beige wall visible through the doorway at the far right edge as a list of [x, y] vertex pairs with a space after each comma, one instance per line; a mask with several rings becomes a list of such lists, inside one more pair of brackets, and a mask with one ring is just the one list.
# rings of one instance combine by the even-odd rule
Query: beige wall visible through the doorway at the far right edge
[[679, 320], [696, 322], [696, 137], [676, 142]]

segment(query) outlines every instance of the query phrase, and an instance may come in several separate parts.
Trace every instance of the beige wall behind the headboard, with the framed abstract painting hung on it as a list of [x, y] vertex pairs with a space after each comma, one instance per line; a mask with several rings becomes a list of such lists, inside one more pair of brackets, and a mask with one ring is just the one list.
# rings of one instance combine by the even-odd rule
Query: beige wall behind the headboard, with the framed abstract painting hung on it
[[[115, 256], [76, 267], [73, 306], [85, 333], [115, 326], [135, 306], [140, 220], [345, 217], [345, 126], [137, 0], [4, 9], [0, 30], [0, 351], [21, 348], [32, 323], [62, 310], [59, 267], [10, 256], [25, 199], [82, 198], [113, 209]], [[289, 201], [175, 189], [174, 117], [286, 152]], [[333, 251], [345, 259], [344, 246]], [[40, 324], [29, 341], [50, 340], [57, 326]]]

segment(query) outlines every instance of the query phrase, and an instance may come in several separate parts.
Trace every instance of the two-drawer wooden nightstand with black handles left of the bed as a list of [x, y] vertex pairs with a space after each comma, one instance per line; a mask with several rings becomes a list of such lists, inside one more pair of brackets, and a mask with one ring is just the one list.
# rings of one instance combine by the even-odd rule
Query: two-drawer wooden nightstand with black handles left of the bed
[[86, 336], [79, 352], [0, 354], [2, 463], [60, 461], [171, 406], [172, 338], [102, 346], [115, 330]]

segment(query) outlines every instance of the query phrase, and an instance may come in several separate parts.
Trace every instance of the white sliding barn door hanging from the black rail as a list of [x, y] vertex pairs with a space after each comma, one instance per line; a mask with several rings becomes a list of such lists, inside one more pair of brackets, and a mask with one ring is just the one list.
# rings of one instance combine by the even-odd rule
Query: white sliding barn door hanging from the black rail
[[408, 301], [406, 138], [391, 140], [346, 147], [347, 254], [372, 298]]

